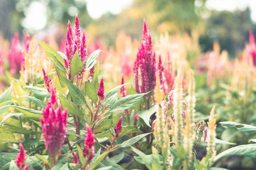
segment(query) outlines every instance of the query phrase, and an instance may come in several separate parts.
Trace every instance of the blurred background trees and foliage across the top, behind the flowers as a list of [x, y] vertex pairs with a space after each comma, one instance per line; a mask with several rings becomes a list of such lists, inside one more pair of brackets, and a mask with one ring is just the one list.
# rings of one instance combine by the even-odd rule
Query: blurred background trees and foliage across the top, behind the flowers
[[[202, 51], [212, 49], [218, 40], [221, 50], [226, 49], [231, 57], [239, 54], [248, 39], [248, 30], [256, 31], [249, 8], [243, 11], [215, 11], [206, 8], [206, 0], [133, 0], [118, 15], [105, 13], [97, 19], [89, 16], [86, 0], [0, 0], [0, 32], [10, 39], [14, 32], [30, 34], [58, 32], [65, 36], [67, 20], [74, 20], [76, 13], [81, 26], [92, 39], [100, 37], [105, 47], [115, 44], [120, 31], [133, 38], [140, 38], [142, 18], [154, 36], [196, 33]], [[45, 14], [38, 18], [38, 28], [29, 27], [29, 11], [41, 5]], [[98, 4], [100, 5], [100, 4]], [[115, 4], [113, 4], [115, 5]], [[220, 4], [221, 5], [221, 4]], [[30, 23], [31, 24], [31, 23]], [[41, 27], [40, 27], [41, 26]]]

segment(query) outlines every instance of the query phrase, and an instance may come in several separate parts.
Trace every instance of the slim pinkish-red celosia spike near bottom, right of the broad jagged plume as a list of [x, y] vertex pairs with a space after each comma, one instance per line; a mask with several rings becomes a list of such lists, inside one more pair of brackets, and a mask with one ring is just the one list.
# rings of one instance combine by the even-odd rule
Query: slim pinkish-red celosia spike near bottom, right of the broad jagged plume
[[87, 134], [84, 137], [84, 150], [83, 150], [83, 156], [87, 156], [87, 161], [91, 162], [93, 155], [95, 153], [94, 149], [94, 143], [96, 142], [93, 132], [90, 128], [90, 126], [86, 123], [85, 124]]

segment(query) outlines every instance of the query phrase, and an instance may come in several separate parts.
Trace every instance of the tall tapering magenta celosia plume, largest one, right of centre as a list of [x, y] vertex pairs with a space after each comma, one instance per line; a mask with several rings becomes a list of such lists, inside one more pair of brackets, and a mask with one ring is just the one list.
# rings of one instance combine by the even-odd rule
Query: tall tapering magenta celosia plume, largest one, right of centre
[[[156, 85], [156, 57], [145, 19], [142, 32], [141, 44], [134, 63], [134, 84], [137, 92], [145, 93], [153, 90]], [[138, 83], [139, 76], [141, 85]]]

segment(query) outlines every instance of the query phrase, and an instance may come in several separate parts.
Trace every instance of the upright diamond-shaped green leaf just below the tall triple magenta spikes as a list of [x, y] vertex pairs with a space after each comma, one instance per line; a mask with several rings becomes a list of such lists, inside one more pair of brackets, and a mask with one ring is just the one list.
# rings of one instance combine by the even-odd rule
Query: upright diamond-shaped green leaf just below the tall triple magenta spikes
[[82, 69], [83, 69], [83, 63], [78, 55], [78, 51], [76, 51], [70, 64], [70, 75], [71, 75], [72, 82], [74, 80], [75, 75], [77, 75]]

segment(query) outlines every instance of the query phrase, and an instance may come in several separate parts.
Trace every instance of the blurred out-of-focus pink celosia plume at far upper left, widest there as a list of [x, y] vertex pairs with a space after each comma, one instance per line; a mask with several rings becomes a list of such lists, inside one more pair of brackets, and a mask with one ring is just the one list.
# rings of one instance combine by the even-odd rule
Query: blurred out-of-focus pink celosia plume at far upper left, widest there
[[8, 59], [10, 64], [10, 72], [12, 74], [17, 74], [20, 71], [20, 68], [23, 65], [24, 61], [18, 33], [15, 33], [11, 40], [11, 47], [8, 53]]

